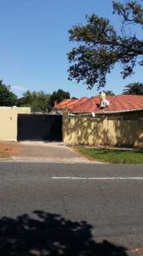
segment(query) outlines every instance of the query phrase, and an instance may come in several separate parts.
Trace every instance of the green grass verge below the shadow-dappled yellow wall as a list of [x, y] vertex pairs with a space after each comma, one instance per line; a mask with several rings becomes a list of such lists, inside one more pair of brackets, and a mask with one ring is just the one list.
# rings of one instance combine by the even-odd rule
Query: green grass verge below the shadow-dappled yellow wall
[[78, 153], [104, 163], [143, 163], [143, 151], [77, 147]]

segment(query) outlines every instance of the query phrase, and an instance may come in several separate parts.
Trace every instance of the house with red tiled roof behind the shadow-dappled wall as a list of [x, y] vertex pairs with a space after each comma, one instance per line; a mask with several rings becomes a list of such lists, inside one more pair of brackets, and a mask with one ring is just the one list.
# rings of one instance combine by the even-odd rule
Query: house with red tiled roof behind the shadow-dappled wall
[[[105, 97], [105, 96], [104, 96]], [[56, 110], [67, 109], [75, 115], [87, 115], [107, 120], [143, 119], [143, 95], [107, 95], [109, 106], [101, 107], [101, 95], [79, 100], [63, 100], [55, 105]]]

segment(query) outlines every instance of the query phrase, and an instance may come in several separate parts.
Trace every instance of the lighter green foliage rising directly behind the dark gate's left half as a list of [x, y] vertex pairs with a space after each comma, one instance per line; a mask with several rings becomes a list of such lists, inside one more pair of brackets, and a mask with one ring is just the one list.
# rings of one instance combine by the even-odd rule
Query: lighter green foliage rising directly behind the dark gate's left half
[[32, 110], [47, 111], [50, 102], [50, 94], [43, 91], [26, 91], [23, 97], [17, 100], [17, 107], [31, 107]]

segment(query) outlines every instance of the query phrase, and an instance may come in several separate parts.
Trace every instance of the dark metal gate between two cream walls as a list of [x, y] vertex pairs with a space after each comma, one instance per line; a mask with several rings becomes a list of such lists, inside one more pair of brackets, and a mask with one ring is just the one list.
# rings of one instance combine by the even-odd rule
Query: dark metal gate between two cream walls
[[19, 114], [17, 140], [62, 140], [62, 116]]

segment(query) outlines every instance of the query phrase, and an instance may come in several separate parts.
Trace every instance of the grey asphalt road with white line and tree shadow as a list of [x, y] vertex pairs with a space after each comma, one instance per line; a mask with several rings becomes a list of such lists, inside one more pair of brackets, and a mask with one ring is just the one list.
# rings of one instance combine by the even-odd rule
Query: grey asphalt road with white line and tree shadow
[[0, 255], [143, 255], [143, 165], [0, 163]]

